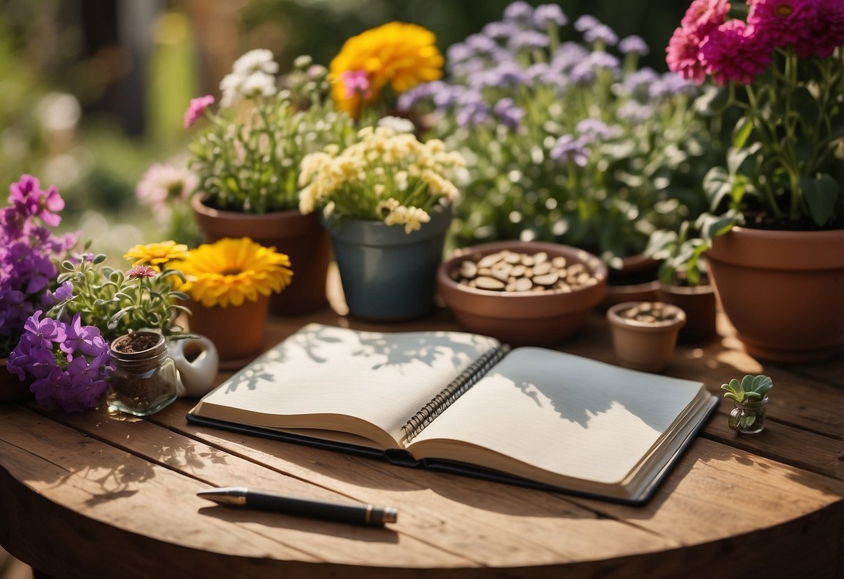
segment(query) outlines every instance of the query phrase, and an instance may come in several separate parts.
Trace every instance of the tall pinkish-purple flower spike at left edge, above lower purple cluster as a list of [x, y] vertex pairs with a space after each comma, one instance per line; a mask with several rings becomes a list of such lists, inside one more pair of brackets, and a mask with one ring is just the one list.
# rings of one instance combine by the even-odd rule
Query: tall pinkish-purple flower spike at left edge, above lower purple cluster
[[47, 289], [56, 262], [76, 244], [73, 235], [51, 233], [64, 208], [56, 187], [44, 191], [38, 179], [24, 175], [9, 192], [8, 206], [0, 210], [0, 356], [17, 343], [36, 307], [53, 304]]

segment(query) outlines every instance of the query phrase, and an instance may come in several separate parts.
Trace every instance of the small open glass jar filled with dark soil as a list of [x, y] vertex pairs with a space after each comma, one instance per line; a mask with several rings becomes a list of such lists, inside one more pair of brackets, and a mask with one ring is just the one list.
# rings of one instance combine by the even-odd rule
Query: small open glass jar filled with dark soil
[[[127, 342], [142, 336], [149, 339], [149, 347], [125, 349]], [[179, 381], [176, 363], [167, 355], [167, 344], [161, 334], [136, 332], [116, 338], [111, 343], [111, 361], [115, 370], [106, 394], [111, 409], [149, 416], [176, 400]]]

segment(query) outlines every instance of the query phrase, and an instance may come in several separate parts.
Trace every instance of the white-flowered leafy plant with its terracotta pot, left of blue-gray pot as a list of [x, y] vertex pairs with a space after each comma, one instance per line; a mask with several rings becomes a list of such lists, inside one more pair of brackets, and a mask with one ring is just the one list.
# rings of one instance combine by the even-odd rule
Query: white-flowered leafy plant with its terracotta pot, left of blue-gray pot
[[299, 314], [327, 303], [325, 284], [331, 246], [315, 215], [301, 215], [296, 181], [302, 158], [329, 143], [344, 145], [354, 134], [351, 119], [327, 98], [324, 67], [310, 57], [295, 60], [281, 79], [268, 50], [246, 52], [211, 95], [192, 100], [191, 127], [208, 118], [189, 145], [189, 166], [198, 176], [192, 198], [206, 241], [248, 236], [290, 257], [296, 280], [273, 298], [273, 311]]

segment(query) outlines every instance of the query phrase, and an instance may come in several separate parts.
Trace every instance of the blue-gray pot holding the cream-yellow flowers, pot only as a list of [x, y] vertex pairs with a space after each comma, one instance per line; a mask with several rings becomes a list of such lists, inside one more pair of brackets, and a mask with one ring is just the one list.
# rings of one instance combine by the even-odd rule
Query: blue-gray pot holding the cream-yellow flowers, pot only
[[451, 208], [443, 209], [431, 211], [430, 222], [410, 233], [403, 225], [381, 221], [322, 219], [331, 234], [349, 315], [399, 322], [434, 309], [436, 269], [452, 219]]

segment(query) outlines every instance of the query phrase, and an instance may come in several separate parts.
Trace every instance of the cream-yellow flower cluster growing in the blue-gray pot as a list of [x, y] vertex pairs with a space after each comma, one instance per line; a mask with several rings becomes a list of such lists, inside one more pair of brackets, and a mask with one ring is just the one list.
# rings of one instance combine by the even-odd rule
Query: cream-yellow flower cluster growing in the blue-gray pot
[[457, 198], [449, 176], [466, 163], [441, 140], [421, 143], [393, 127], [365, 127], [358, 139], [342, 151], [331, 145], [302, 160], [301, 213], [330, 207], [340, 217], [404, 225], [409, 233], [430, 221], [435, 204]]

